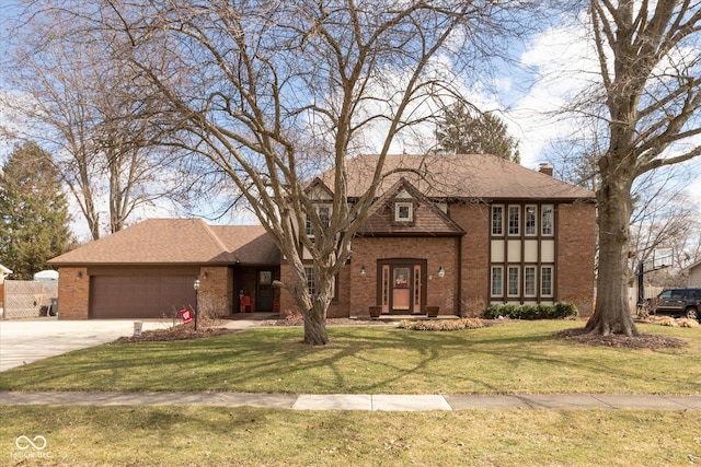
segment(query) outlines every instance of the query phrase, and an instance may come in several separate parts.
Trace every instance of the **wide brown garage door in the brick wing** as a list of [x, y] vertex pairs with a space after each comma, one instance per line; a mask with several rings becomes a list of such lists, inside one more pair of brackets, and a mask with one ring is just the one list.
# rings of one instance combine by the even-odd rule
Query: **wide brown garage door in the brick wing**
[[161, 318], [195, 305], [193, 276], [94, 276], [90, 317]]

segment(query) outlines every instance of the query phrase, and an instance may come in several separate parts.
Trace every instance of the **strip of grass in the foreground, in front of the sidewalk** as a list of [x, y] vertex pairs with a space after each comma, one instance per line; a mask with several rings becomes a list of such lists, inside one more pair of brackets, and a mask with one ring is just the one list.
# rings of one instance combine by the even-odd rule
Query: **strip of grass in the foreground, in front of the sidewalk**
[[[701, 462], [701, 418], [694, 411], [2, 410], [0, 465], [628, 467]], [[43, 435], [47, 446], [41, 453], [20, 451], [14, 440], [21, 435]]]

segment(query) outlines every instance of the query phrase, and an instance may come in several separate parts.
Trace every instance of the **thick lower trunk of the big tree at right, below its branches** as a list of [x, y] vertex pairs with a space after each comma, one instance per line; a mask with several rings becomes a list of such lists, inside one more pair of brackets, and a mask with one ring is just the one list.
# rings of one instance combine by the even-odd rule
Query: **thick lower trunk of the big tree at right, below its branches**
[[596, 310], [586, 329], [601, 336], [632, 337], [640, 335], [629, 310], [625, 280], [632, 200], [628, 184], [611, 178], [605, 178], [597, 191], [599, 275]]

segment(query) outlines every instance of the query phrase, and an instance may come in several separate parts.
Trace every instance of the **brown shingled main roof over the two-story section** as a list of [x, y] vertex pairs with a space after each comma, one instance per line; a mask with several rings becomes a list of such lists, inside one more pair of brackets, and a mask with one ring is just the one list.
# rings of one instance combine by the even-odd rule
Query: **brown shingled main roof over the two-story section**
[[[359, 197], [368, 188], [378, 155], [360, 155], [348, 161], [348, 196]], [[429, 198], [462, 199], [594, 199], [594, 192], [489, 154], [395, 154], [388, 155], [388, 175], [378, 196], [401, 177]], [[333, 170], [319, 178], [331, 189]]]

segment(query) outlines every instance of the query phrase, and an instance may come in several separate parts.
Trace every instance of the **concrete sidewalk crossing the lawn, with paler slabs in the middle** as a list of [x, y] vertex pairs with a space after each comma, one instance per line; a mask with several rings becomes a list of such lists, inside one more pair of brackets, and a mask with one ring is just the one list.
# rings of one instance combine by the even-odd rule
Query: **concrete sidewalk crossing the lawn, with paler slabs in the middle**
[[0, 406], [210, 406], [292, 410], [701, 410], [701, 396], [630, 394], [529, 395], [289, 395], [251, 393], [33, 393], [0, 392]]

